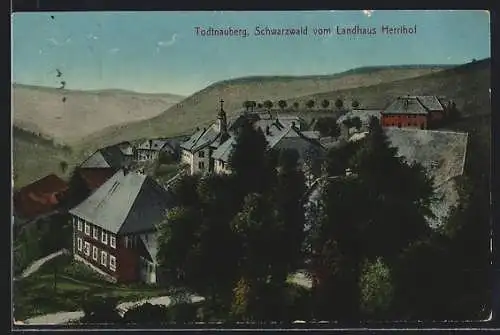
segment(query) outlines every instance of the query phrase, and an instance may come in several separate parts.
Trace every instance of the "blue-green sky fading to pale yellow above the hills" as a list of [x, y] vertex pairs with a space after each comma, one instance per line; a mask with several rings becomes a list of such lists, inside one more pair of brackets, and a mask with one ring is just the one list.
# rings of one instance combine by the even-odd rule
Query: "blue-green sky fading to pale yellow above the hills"
[[[12, 25], [13, 82], [58, 87], [64, 80], [79, 90], [189, 95], [237, 77], [490, 57], [490, 16], [482, 10], [39, 12], [15, 13]], [[355, 25], [377, 33], [314, 34]], [[416, 33], [382, 34], [383, 25], [416, 26]], [[266, 26], [307, 26], [308, 35], [254, 35]], [[249, 36], [197, 36], [196, 27], [247, 29]]]

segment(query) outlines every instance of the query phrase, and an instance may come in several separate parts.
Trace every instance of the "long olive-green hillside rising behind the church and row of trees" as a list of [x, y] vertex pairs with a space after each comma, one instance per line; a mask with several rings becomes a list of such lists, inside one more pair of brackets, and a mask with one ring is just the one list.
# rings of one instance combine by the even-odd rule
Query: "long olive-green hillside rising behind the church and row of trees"
[[[377, 85], [384, 82], [413, 78], [441, 71], [446, 66], [397, 66], [369, 67], [345, 73], [304, 77], [246, 77], [222, 81], [186, 98], [164, 113], [149, 120], [128, 125], [109, 127], [87, 139], [87, 144], [113, 144], [123, 140], [144, 137], [170, 136], [190, 131], [196, 126], [213, 120], [224, 99], [229, 116], [241, 107], [245, 100], [278, 100], [327, 92]], [[90, 143], [89, 143], [90, 141]]]

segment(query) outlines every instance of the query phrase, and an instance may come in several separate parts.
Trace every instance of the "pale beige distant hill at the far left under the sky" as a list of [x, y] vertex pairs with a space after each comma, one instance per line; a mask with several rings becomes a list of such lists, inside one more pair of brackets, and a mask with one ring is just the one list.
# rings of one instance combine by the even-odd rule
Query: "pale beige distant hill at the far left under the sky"
[[19, 84], [12, 89], [14, 125], [66, 144], [109, 126], [152, 118], [182, 98], [173, 94], [73, 91]]

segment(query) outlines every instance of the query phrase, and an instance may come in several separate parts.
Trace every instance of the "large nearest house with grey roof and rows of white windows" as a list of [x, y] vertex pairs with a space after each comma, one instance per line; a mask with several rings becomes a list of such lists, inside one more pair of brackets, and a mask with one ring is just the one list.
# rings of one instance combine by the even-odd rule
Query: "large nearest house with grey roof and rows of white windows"
[[69, 211], [75, 259], [113, 281], [155, 283], [156, 227], [173, 200], [150, 177], [119, 170]]

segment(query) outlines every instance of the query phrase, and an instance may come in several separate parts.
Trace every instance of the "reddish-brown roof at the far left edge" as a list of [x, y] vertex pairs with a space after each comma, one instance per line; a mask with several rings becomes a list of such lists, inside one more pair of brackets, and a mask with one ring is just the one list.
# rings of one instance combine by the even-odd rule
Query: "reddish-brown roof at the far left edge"
[[68, 184], [51, 174], [21, 188], [14, 194], [14, 211], [22, 218], [32, 219], [52, 212], [59, 204], [58, 196], [68, 189]]

